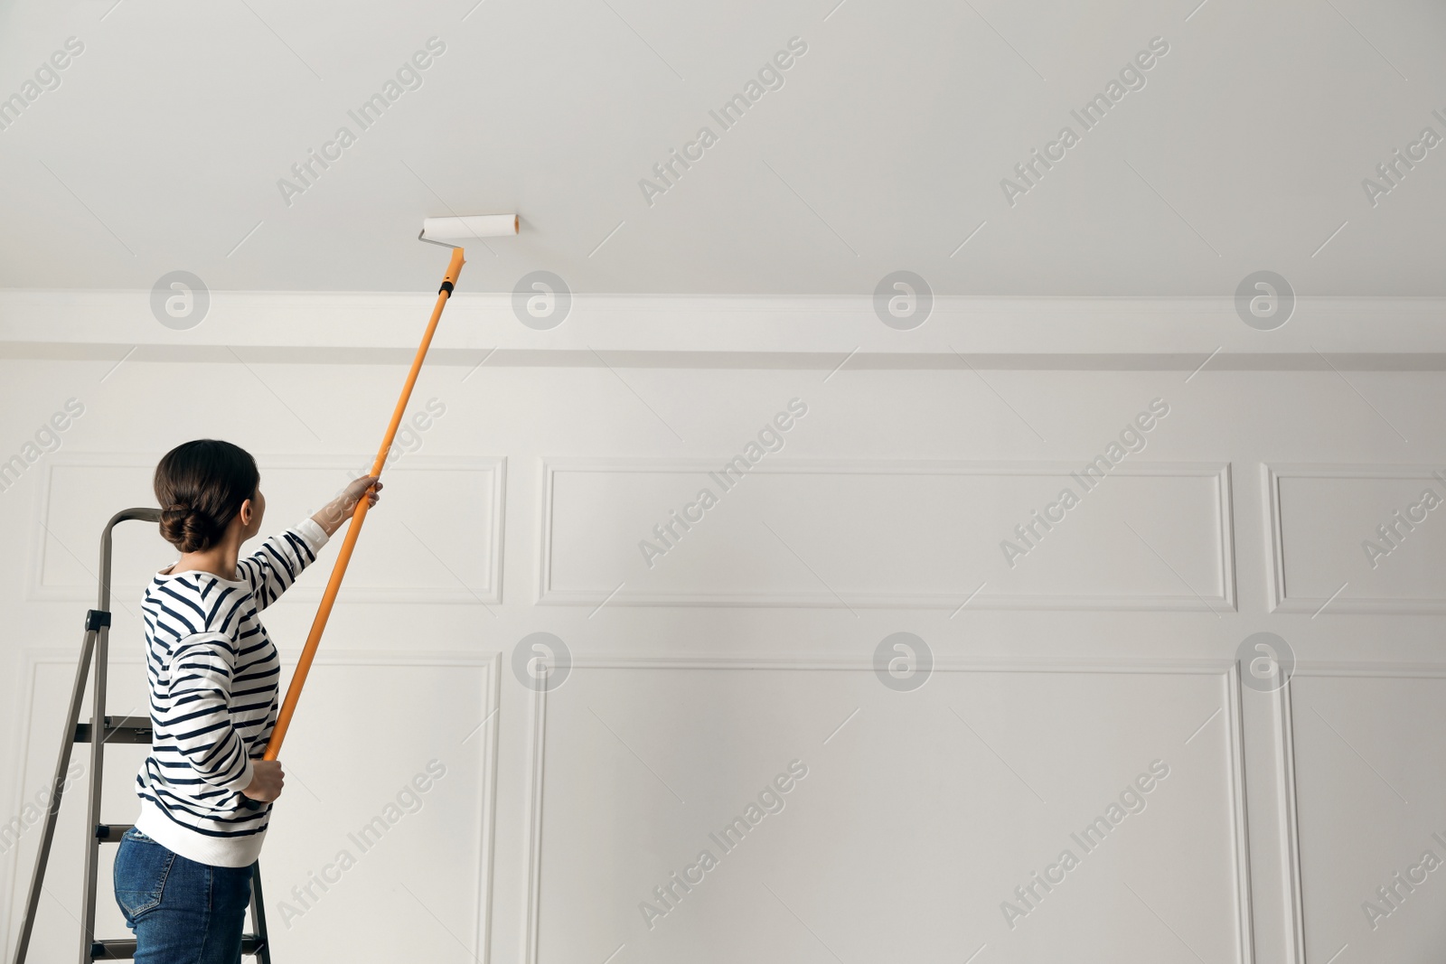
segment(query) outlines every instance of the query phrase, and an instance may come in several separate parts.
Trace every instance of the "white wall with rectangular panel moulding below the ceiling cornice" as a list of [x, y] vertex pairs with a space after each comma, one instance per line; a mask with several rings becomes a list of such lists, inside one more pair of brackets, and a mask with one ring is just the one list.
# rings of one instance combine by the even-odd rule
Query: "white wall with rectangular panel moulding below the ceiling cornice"
[[[150, 502], [155, 460], [236, 441], [270, 528], [288, 525], [366, 464], [402, 376], [184, 344], [113, 369], [123, 350], [9, 338], [0, 458], [67, 399], [85, 413], [0, 493], [6, 819], [54, 765], [100, 526]], [[279, 960], [1223, 964], [1348, 945], [1345, 964], [1440, 947], [1440, 873], [1375, 929], [1361, 903], [1424, 850], [1446, 858], [1446, 522], [1432, 512], [1377, 568], [1361, 542], [1423, 489], [1446, 494], [1429, 477], [1446, 376], [1231, 354], [1193, 373], [1209, 348], [977, 371], [698, 351], [474, 369], [444, 347], [425, 370], [412, 408], [445, 413], [386, 475], [283, 754], [262, 861]], [[782, 451], [713, 483], [719, 504], [649, 568], [639, 539], [795, 397]], [[1147, 448], [1011, 568], [999, 542], [1154, 399], [1168, 415]], [[143, 705], [134, 597], [169, 558], [120, 530], [116, 713]], [[268, 614], [283, 650], [333, 558]], [[1261, 630], [1300, 660], [1288, 700], [1241, 682], [1236, 647]], [[573, 655], [545, 697], [512, 669], [534, 632]], [[872, 668], [898, 632], [934, 658], [908, 692]], [[133, 817], [139, 757], [108, 754], [107, 819]], [[447, 775], [422, 808], [286, 926], [289, 889], [434, 759]], [[724, 854], [710, 831], [792, 760], [807, 776]], [[1168, 776], [1144, 809], [1086, 853], [1071, 832], [1155, 760]], [[74, 955], [80, 804], [36, 961]], [[36, 837], [0, 858], [9, 942]], [[639, 903], [703, 848], [717, 867], [649, 929]], [[1014, 889], [1066, 848], [1079, 866], [1011, 928], [1001, 903], [1022, 908]], [[98, 931], [124, 931], [108, 890]]]

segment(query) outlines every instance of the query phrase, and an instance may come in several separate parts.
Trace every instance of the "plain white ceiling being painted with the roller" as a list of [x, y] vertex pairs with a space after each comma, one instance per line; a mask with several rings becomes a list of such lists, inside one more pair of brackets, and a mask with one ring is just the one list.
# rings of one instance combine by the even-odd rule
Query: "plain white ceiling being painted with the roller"
[[[865, 295], [908, 269], [941, 295], [1228, 296], [1272, 269], [1446, 293], [1446, 145], [1375, 207], [1361, 186], [1446, 137], [1437, 1], [474, 3], [0, 0], [0, 97], [85, 45], [0, 132], [0, 286], [435, 289], [422, 217], [518, 211], [464, 291]], [[422, 87], [288, 207], [278, 179], [432, 36]], [[709, 110], [794, 36], [722, 132]], [[1011, 207], [1001, 179], [1154, 36], [1147, 85]], [[649, 207], [639, 179], [701, 126]]]

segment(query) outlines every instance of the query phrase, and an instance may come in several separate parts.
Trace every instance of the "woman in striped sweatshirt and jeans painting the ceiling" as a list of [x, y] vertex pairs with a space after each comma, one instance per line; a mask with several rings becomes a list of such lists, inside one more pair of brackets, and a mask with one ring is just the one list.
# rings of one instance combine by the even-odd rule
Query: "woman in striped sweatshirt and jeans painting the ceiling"
[[[161, 535], [181, 551], [146, 588], [150, 756], [140, 817], [116, 854], [116, 903], [140, 964], [236, 964], [252, 866], [281, 796], [281, 762], [260, 759], [276, 724], [281, 663], [257, 613], [281, 597], [357, 500], [364, 475], [321, 512], [239, 559], [262, 526], [256, 460], [230, 442], [179, 445], [156, 467]], [[250, 809], [250, 801], [262, 806]]]

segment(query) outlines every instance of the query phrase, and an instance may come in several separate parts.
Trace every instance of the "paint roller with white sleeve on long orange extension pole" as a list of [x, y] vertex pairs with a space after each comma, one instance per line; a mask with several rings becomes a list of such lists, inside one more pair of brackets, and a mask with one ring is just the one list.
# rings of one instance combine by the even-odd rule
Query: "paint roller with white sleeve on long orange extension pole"
[[[461, 275], [461, 266], [466, 263], [464, 250], [460, 244], [450, 244], [441, 238], [451, 240], [467, 240], [467, 238], [482, 238], [482, 237], [502, 237], [508, 234], [516, 234], [521, 227], [516, 214], [482, 214], [471, 217], [454, 217], [454, 218], [425, 218], [422, 221], [422, 231], [418, 234], [418, 240], [427, 241], [428, 244], [441, 244], [442, 247], [450, 247], [451, 263], [447, 266], [447, 273], [442, 276], [442, 285], [437, 291], [437, 305], [432, 308], [431, 321], [427, 322], [427, 331], [422, 334], [422, 344], [416, 348], [416, 356], [412, 358], [412, 369], [406, 373], [406, 383], [402, 386], [402, 395], [396, 400], [396, 408], [392, 410], [392, 421], [386, 426], [386, 434], [382, 436], [382, 447], [376, 452], [376, 461], [372, 462], [372, 471], [369, 475], [380, 475], [383, 465], [386, 465], [386, 457], [392, 451], [392, 442], [396, 439], [396, 429], [402, 423], [402, 416], [406, 413], [406, 403], [412, 397], [412, 389], [416, 386], [416, 376], [422, 370], [422, 361], [427, 360], [427, 350], [432, 344], [432, 335], [437, 334], [437, 322], [441, 321], [442, 308], [451, 299], [453, 289], [457, 285], [457, 277]], [[307, 684], [307, 673], [311, 672], [311, 663], [317, 656], [317, 647], [321, 645], [321, 633], [327, 629], [327, 620], [331, 617], [331, 607], [337, 601], [337, 593], [341, 590], [341, 580], [347, 574], [347, 564], [351, 562], [351, 551], [356, 548], [357, 538], [362, 535], [362, 522], [366, 519], [367, 509], [370, 507], [369, 500], [363, 496], [357, 500], [357, 507], [351, 513], [351, 525], [347, 528], [347, 535], [341, 541], [341, 551], [337, 554], [337, 562], [331, 567], [331, 578], [327, 580], [327, 591], [321, 595], [321, 606], [317, 608], [317, 617], [311, 623], [311, 632], [307, 634], [307, 645], [301, 650], [301, 658], [296, 660], [296, 672], [291, 676], [291, 685], [286, 688], [286, 698], [282, 701], [281, 713], [276, 715], [276, 727], [272, 730], [270, 741], [266, 744], [268, 760], [275, 760], [281, 754], [281, 744], [286, 739], [286, 730], [291, 727], [291, 720], [296, 713], [296, 704], [301, 700], [301, 688]], [[246, 805], [252, 809], [260, 809], [262, 804], [259, 801], [246, 801]]]

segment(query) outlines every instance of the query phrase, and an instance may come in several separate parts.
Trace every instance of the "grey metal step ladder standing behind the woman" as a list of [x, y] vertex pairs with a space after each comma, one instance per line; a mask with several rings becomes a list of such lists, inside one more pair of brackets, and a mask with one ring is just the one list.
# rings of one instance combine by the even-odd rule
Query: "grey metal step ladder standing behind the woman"
[[[71, 750], [77, 743], [90, 743], [90, 802], [85, 825], [90, 828], [85, 841], [85, 889], [81, 903], [81, 948], [80, 964], [91, 961], [124, 961], [136, 955], [136, 941], [97, 941], [95, 934], [95, 874], [100, 863], [101, 844], [119, 844], [130, 824], [103, 824], [100, 819], [101, 775], [104, 773], [104, 752], [107, 743], [150, 744], [150, 717], [107, 717], [106, 715], [106, 666], [110, 643], [110, 546], [111, 529], [130, 519], [161, 522], [159, 509], [126, 509], [111, 516], [100, 536], [100, 594], [95, 608], [85, 614], [85, 637], [81, 642], [81, 659], [75, 669], [75, 687], [71, 691], [71, 710], [61, 731], [61, 759], [55, 765], [55, 780], [51, 783], [51, 802], [45, 812], [45, 827], [40, 831], [40, 850], [35, 856], [35, 872], [30, 876], [30, 895], [25, 905], [25, 922], [20, 925], [20, 941], [16, 944], [13, 963], [25, 964], [30, 948], [30, 934], [35, 929], [35, 915], [40, 906], [40, 890], [45, 883], [45, 864], [51, 856], [55, 838], [55, 821], [61, 812], [61, 795], [65, 792], [65, 772], [71, 766]], [[91, 658], [95, 660], [95, 681], [91, 697], [91, 721], [81, 723], [81, 701], [85, 697], [85, 679], [90, 675]], [[95, 739], [97, 734], [100, 739]], [[134, 804], [134, 801], [132, 801]], [[270, 947], [266, 935], [266, 912], [262, 898], [260, 866], [252, 869], [252, 925], [253, 934], [241, 938], [241, 954], [252, 954], [260, 964], [270, 964]]]

